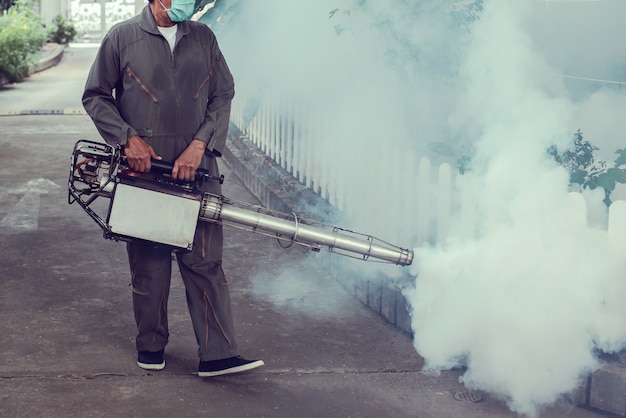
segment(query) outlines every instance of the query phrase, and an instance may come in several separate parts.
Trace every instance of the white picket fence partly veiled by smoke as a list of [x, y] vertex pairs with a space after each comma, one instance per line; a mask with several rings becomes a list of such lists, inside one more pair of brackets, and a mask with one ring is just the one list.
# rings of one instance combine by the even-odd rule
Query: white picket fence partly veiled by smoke
[[[315, 115], [275, 96], [266, 96], [253, 111], [247, 110], [252, 95], [241, 90], [233, 102], [231, 122], [299, 182], [354, 219], [355, 225], [367, 225], [368, 233], [402, 246], [442, 242], [451, 228], [455, 237], [476, 234], [478, 202], [467, 187], [471, 176], [460, 175], [448, 163], [433, 167], [426, 157], [416, 161], [402, 149], [370, 152], [367, 147], [360, 158], [369, 158], [364, 166], [372, 169], [355, 172], [354, 178], [339, 176], [337, 167], [326, 161], [328, 150], [319, 149], [316, 134], [321, 121]], [[374, 168], [381, 160], [395, 162], [397, 173], [377, 172]], [[357, 183], [371, 185], [375, 192], [363, 193]], [[582, 195], [571, 193], [566, 204], [577, 217], [587, 218]], [[609, 239], [626, 255], [626, 201], [613, 202], [605, 227]]]

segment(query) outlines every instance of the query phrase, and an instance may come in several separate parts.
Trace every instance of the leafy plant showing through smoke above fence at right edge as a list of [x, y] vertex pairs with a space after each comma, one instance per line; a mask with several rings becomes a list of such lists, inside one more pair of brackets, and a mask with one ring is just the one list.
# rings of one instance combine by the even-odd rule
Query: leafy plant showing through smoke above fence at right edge
[[570, 173], [570, 184], [577, 184], [581, 189], [604, 189], [604, 203], [611, 204], [611, 193], [617, 183], [626, 183], [626, 148], [618, 149], [614, 167], [607, 168], [605, 161], [595, 160], [599, 148], [583, 138], [580, 129], [574, 134], [572, 148], [559, 152], [556, 146], [548, 149], [548, 155], [565, 167]]

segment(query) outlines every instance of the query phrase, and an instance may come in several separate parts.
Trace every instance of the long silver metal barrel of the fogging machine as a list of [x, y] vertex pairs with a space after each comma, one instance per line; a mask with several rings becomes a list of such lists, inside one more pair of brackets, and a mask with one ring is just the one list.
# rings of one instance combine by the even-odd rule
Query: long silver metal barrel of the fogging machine
[[233, 206], [224, 201], [222, 196], [210, 193], [205, 193], [203, 196], [199, 219], [208, 222], [230, 222], [255, 230], [271, 232], [286, 239], [326, 245], [331, 249], [350, 251], [365, 258], [372, 257], [401, 266], [408, 266], [413, 262], [413, 251], [379, 245], [367, 239], [357, 239], [299, 223], [295, 215], [293, 220], [288, 220]]

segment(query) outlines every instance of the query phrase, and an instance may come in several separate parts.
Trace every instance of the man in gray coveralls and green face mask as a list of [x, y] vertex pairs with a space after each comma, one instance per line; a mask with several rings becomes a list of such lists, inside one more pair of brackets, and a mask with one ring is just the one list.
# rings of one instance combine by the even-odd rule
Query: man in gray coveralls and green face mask
[[[87, 78], [83, 105], [111, 145], [123, 145], [128, 165], [150, 171], [151, 159], [173, 161], [172, 177], [193, 180], [202, 167], [219, 175], [234, 82], [213, 32], [188, 19], [206, 0], [149, 0], [102, 41]], [[218, 182], [205, 191], [221, 193]], [[169, 249], [129, 243], [137, 364], [165, 367]], [[200, 222], [193, 250], [178, 253], [198, 342], [198, 375], [251, 370], [261, 360], [239, 356], [228, 283], [222, 270], [222, 227]]]

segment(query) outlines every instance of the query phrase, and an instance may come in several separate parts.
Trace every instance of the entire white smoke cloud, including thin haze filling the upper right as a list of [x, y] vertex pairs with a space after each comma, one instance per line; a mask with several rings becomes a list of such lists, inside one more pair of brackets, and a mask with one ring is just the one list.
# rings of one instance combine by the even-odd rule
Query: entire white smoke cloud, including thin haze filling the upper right
[[[320, 161], [363, 196], [364, 220], [412, 190], [413, 179], [393, 177], [391, 150], [414, 161], [437, 161], [430, 141], [456, 156], [475, 150], [478, 237], [455, 238], [466, 229], [455, 225], [447, 242], [417, 248], [405, 295], [426, 367], [465, 365], [468, 387], [522, 414], [576, 389], [598, 367], [596, 349], [626, 342], [624, 248], [607, 243], [603, 196], [586, 193], [585, 213], [546, 157], [578, 129], [609, 163], [624, 147], [624, 92], [564, 76], [626, 75], [625, 9], [619, 0], [266, 0], [246, 2], [218, 33], [239, 86], [253, 80], [318, 115]], [[366, 154], [379, 166], [364, 166]], [[393, 221], [365, 226], [376, 235]]]

